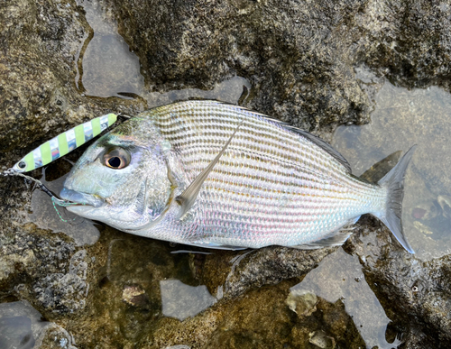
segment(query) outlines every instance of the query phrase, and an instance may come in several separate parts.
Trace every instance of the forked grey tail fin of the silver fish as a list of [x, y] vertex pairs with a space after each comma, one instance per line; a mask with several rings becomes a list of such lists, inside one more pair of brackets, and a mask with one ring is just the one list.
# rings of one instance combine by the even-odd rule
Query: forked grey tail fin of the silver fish
[[415, 148], [417, 148], [417, 145], [411, 147], [409, 152], [404, 154], [398, 164], [378, 182], [381, 187], [389, 189], [389, 194], [387, 197], [387, 210], [377, 215], [377, 217], [382, 220], [384, 225], [388, 226], [402, 247], [410, 253], [414, 253], [414, 251], [402, 232], [401, 213], [402, 198], [404, 197], [404, 176]]

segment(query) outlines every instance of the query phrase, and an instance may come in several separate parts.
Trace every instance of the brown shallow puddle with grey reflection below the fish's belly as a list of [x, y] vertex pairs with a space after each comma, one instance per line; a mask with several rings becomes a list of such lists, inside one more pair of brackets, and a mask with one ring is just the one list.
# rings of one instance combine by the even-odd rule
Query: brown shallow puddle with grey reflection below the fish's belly
[[193, 276], [190, 261], [196, 257], [172, 250], [168, 243], [131, 235], [109, 243], [106, 275], [94, 297], [98, 308], [105, 307], [101, 312], [120, 314], [124, 335], [129, 334], [129, 326], [136, 327], [134, 321], [142, 327], [161, 317], [183, 321], [216, 303]]

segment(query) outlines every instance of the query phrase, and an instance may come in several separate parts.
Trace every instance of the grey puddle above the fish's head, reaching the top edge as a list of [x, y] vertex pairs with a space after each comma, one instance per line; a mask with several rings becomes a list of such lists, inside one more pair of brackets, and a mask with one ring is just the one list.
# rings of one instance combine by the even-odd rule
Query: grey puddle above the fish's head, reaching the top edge
[[244, 87], [247, 91], [251, 89], [245, 78], [234, 77], [216, 84], [211, 90], [185, 88], [166, 93], [149, 92], [144, 87], [138, 57], [117, 32], [117, 23], [104, 2], [78, 1], [78, 4], [86, 11], [87, 23], [93, 30], [78, 52], [76, 85], [87, 96], [140, 96], [151, 108], [189, 98], [237, 103]]

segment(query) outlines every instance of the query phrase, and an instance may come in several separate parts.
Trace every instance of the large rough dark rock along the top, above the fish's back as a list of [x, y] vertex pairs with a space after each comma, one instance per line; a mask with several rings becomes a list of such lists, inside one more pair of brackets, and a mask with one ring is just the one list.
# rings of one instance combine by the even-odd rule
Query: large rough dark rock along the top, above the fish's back
[[360, 64], [397, 84], [448, 86], [451, 6], [438, 1], [117, 1], [148, 87], [212, 87], [238, 74], [249, 106], [306, 129], [365, 123]]

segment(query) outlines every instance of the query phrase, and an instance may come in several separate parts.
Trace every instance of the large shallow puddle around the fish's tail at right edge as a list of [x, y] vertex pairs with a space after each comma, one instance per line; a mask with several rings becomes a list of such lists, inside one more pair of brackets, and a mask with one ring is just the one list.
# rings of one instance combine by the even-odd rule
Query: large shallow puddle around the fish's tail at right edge
[[359, 175], [391, 152], [418, 144], [405, 182], [405, 234], [420, 259], [451, 253], [451, 95], [384, 82], [371, 116], [371, 124], [339, 127], [334, 147]]

